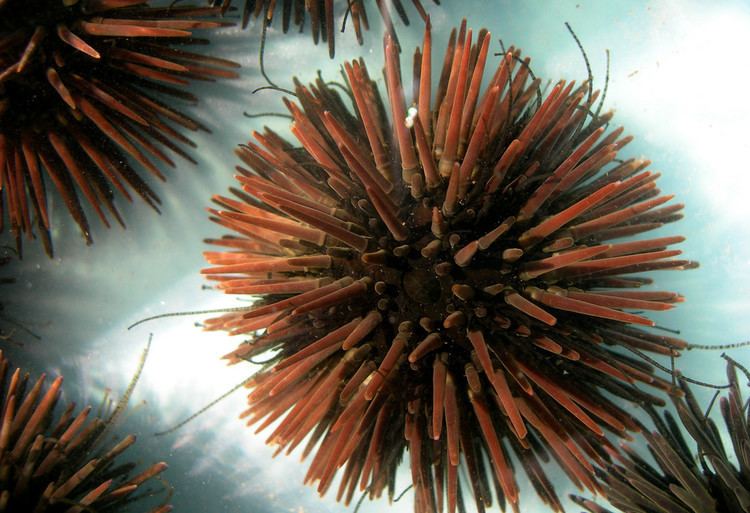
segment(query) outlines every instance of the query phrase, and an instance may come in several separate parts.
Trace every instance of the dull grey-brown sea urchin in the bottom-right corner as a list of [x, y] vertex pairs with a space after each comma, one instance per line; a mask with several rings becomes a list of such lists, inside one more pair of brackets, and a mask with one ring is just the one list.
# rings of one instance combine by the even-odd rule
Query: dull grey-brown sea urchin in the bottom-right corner
[[[626, 459], [600, 473], [604, 496], [613, 506], [627, 513], [750, 511], [750, 418], [737, 365], [731, 360], [727, 376], [729, 389], [719, 404], [732, 452], [727, 452], [721, 431], [681, 380], [684, 397], [673, 398], [679, 422], [669, 412], [664, 420], [651, 412], [657, 431], [644, 432], [656, 465], [626, 447]], [[686, 442], [683, 428], [692, 442]], [[573, 499], [592, 513], [611, 513], [582, 497]]]

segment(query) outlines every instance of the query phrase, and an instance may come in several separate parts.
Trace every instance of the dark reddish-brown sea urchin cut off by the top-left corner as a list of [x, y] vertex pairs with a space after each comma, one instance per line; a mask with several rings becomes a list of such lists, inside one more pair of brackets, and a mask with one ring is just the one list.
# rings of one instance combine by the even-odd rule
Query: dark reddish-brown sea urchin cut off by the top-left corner
[[50, 181], [87, 242], [79, 193], [107, 226], [106, 211], [122, 224], [115, 189], [156, 208], [128, 160], [159, 178], [153, 159], [174, 165], [165, 150], [192, 161], [183, 147], [194, 143], [175, 127], [202, 125], [159, 98], [194, 101], [188, 80], [236, 76], [236, 64], [180, 48], [202, 41], [194, 30], [221, 26], [205, 19], [218, 13], [141, 0], [0, 0], [0, 231], [7, 211], [16, 239], [31, 236], [33, 215], [51, 253]]

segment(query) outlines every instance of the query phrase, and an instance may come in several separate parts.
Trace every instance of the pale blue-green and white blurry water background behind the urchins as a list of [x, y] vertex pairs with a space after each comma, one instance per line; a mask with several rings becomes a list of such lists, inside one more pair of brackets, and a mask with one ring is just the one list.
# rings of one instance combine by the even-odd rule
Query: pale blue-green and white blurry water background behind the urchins
[[[624, 125], [635, 140], [621, 157], [645, 157], [662, 172], [661, 188], [685, 203], [685, 219], [653, 236], [681, 234], [686, 258], [701, 267], [686, 272], [653, 272], [654, 289], [674, 290], [686, 301], [670, 312], [653, 315], [681, 338], [697, 344], [725, 344], [750, 339], [750, 170], [748, 121], [750, 103], [750, 5], [742, 1], [570, 1], [511, 2], [496, 0], [424, 1], [431, 14], [435, 55], [441, 55], [450, 29], [463, 17], [475, 29], [492, 32], [532, 58], [534, 73], [545, 80], [586, 78], [586, 66], [564, 22], [569, 22], [588, 55], [595, 87], [604, 85], [605, 50], [611, 67], [605, 110], [615, 109], [614, 124]], [[409, 6], [410, 27], [396, 21], [404, 62], [422, 38], [423, 26]], [[344, 60], [364, 56], [380, 68], [382, 26], [373, 8], [365, 44], [354, 32], [337, 35], [336, 57], [324, 45], [314, 46], [309, 33], [282, 37], [269, 29], [265, 66], [280, 86], [293, 76], [312, 81], [318, 70], [336, 79]], [[343, 9], [339, 11], [340, 25]], [[167, 461], [164, 474], [174, 488], [175, 511], [193, 512], [333, 512], [351, 511], [333, 493], [319, 498], [302, 485], [307, 464], [298, 453], [272, 459], [264, 445], [268, 433], [254, 435], [237, 417], [245, 409], [238, 391], [174, 433], [170, 428], [220, 396], [252, 372], [250, 364], [227, 367], [220, 358], [240, 337], [203, 332], [194, 324], [208, 316], [155, 320], [132, 330], [147, 316], [177, 311], [241, 306], [234, 297], [203, 290], [198, 271], [207, 237], [224, 230], [208, 221], [205, 207], [213, 194], [233, 185], [237, 144], [264, 124], [289, 136], [287, 121], [248, 119], [243, 112], [283, 112], [282, 94], [265, 90], [257, 70], [259, 26], [227, 28], [211, 35], [206, 53], [242, 64], [241, 78], [194, 84], [200, 103], [188, 110], [211, 128], [191, 134], [198, 144], [198, 165], [178, 162], [167, 170], [165, 184], [150, 182], [162, 199], [155, 214], [135, 200], [119, 202], [126, 230], [105, 229], [92, 222], [93, 246], [87, 247], [65, 206], [50, 195], [55, 257], [40, 244], [25, 243], [23, 260], [0, 268], [16, 283], [0, 288], [2, 314], [28, 327], [39, 339], [18, 331], [18, 343], [1, 342], [14, 365], [38, 375], [65, 376], [64, 398], [97, 404], [104, 389], [122, 393], [130, 381], [149, 334], [153, 343], [143, 375], [131, 398], [130, 413], [119, 430], [133, 432], [139, 443], [129, 459]], [[257, 25], [257, 24], [256, 24]], [[496, 61], [493, 61], [496, 62]], [[373, 73], [375, 75], [375, 73]], [[408, 74], [405, 74], [407, 76]], [[382, 82], [382, 80], [381, 80]], [[93, 219], [93, 217], [92, 217]], [[3, 233], [0, 242], [13, 243]], [[734, 350], [741, 363], [750, 351]], [[662, 362], [669, 365], [668, 361]], [[723, 383], [720, 351], [686, 351], [677, 367], [698, 380]], [[712, 391], [697, 389], [705, 402]], [[562, 472], [550, 467], [558, 493], [572, 489]], [[408, 471], [398, 489], [408, 483]], [[544, 512], [538, 498], [521, 481], [521, 511]], [[362, 512], [383, 511], [387, 501], [365, 501]], [[143, 506], [134, 506], [140, 511]], [[411, 496], [393, 504], [394, 512], [411, 511]], [[571, 506], [569, 511], [577, 511]]]

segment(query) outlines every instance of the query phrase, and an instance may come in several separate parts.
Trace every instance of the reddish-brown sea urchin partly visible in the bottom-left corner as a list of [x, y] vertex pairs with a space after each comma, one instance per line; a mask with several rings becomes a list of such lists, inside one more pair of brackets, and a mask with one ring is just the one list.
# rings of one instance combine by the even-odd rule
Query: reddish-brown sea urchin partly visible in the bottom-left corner
[[[76, 413], [70, 403], [55, 414], [62, 377], [45, 390], [44, 375], [32, 384], [20, 369], [9, 371], [0, 351], [0, 513], [124, 511], [166, 469], [155, 463], [134, 474], [135, 465], [119, 456], [135, 437], [103, 446], [107, 422], [91, 419], [90, 406]], [[149, 511], [171, 510], [163, 504]]]

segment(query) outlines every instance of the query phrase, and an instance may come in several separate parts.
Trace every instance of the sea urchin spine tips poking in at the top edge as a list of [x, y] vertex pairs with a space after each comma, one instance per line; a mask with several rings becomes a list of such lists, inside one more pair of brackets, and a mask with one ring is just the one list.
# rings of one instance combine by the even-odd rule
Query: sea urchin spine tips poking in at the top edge
[[[433, 1], [436, 4], [440, 3], [440, 0]], [[221, 5], [222, 10], [226, 12], [231, 7], [232, 0], [212, 0], [211, 3], [213, 5]], [[252, 16], [255, 19], [262, 18], [264, 20], [263, 29], [265, 31], [266, 27], [273, 23], [274, 16], [278, 16], [280, 12], [282, 18], [281, 29], [286, 34], [292, 24], [299, 27], [301, 31], [305, 24], [305, 19], [309, 17], [313, 42], [315, 44], [318, 44], [320, 40], [327, 42], [328, 54], [333, 58], [336, 51], [335, 32], [337, 30], [334, 26], [335, 9], [333, 3], [334, 0], [284, 0], [284, 2], [277, 2], [276, 0], [245, 0], [242, 4], [242, 27], [247, 27]], [[409, 16], [404, 8], [404, 3], [402, 0], [393, 0], [392, 2], [375, 0], [374, 3], [383, 17], [386, 30], [396, 39], [390, 6], [391, 4], [393, 5], [404, 25], [409, 25]], [[422, 6], [421, 0], [411, 0], [411, 3], [419, 13], [419, 16], [426, 21], [427, 12]], [[351, 16], [352, 24], [354, 25], [357, 42], [361, 45], [363, 42], [362, 30], [369, 28], [365, 1], [350, 0], [347, 2], [346, 17], [348, 18], [349, 16]]]

